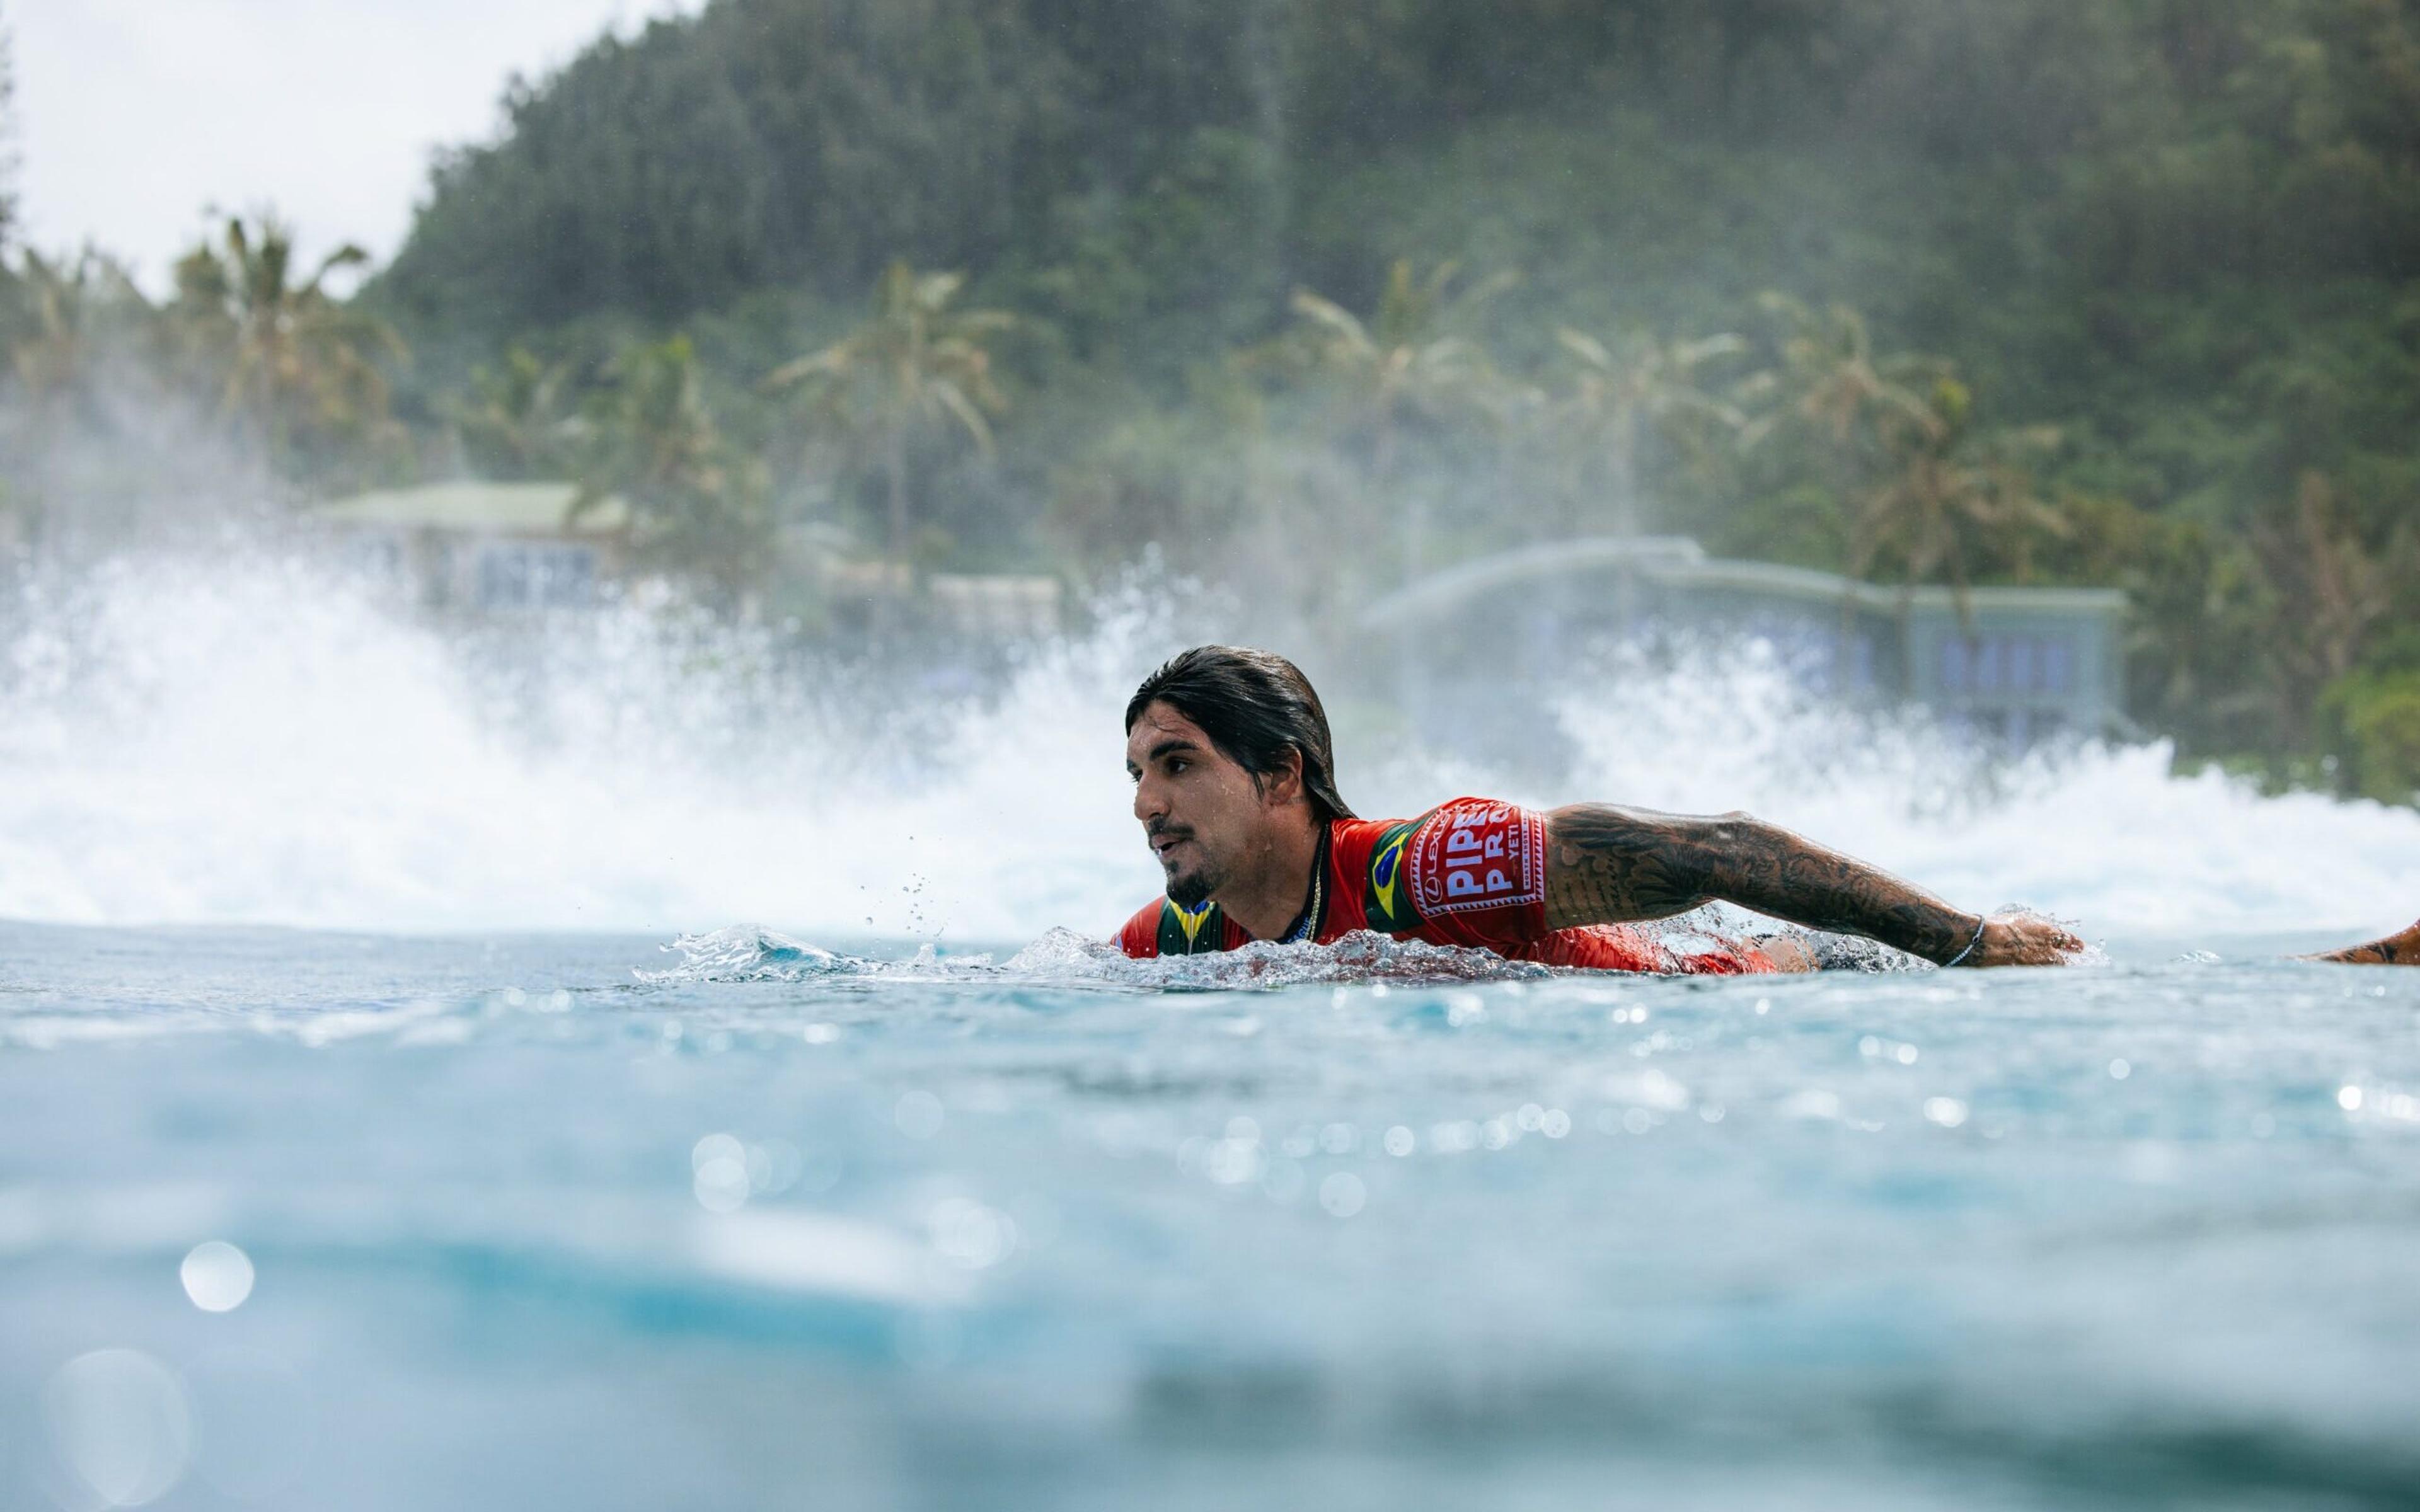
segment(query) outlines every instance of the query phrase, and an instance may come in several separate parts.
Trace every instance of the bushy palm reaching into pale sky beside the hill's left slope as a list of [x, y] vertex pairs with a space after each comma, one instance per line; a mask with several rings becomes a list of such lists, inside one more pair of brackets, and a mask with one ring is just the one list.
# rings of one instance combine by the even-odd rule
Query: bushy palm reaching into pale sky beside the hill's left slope
[[223, 419], [293, 462], [315, 443], [361, 445], [397, 435], [378, 358], [402, 360], [402, 339], [327, 290], [329, 273], [370, 261], [339, 247], [295, 283], [293, 227], [230, 218], [218, 244], [177, 264], [169, 324], [189, 363], [215, 387]]

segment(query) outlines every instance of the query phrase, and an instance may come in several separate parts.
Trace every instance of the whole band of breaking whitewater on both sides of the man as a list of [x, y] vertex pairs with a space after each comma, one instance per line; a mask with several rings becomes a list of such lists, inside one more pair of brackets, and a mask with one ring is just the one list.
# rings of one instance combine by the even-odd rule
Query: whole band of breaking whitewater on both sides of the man
[[[1118, 714], [1205, 639], [1128, 588], [968, 677], [803, 660], [617, 605], [511, 641], [278, 556], [121, 561], [0, 600], [0, 917], [1031, 941], [1157, 890]], [[1232, 634], [1232, 624], [1222, 624]], [[1542, 791], [1338, 731], [1365, 813], [1459, 791], [1750, 808], [1965, 902], [2093, 934], [2364, 931], [2420, 907], [2420, 813], [2173, 774], [2161, 745], [1984, 764], [1791, 692], [1757, 646], [1558, 689]]]

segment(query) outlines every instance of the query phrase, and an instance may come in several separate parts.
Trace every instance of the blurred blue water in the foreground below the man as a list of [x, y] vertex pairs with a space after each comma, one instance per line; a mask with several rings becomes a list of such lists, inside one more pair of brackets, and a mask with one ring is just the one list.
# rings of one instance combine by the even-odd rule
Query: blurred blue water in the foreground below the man
[[2292, 943], [10, 924], [0, 1505], [2408, 1507], [2420, 973]]

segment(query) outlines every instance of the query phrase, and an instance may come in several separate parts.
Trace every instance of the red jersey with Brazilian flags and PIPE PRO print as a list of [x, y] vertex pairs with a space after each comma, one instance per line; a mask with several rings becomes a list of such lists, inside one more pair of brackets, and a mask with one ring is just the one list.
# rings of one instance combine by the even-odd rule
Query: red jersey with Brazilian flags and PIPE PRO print
[[[1546, 929], [1546, 815], [1491, 798], [1454, 798], [1416, 820], [1331, 820], [1319, 902], [1307, 939], [1355, 929], [1435, 946], [1476, 946], [1512, 960], [1638, 973], [1769, 973], [1747, 946], [1679, 953], [1626, 924]], [[1249, 943], [1244, 927], [1205, 902], [1145, 905], [1118, 948], [1128, 956], [1200, 956]]]

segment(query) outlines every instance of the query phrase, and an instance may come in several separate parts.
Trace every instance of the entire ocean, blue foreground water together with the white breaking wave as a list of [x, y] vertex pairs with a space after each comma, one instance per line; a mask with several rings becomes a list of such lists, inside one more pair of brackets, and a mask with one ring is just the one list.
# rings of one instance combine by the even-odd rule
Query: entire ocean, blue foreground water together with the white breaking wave
[[2420, 1497], [2420, 973], [2284, 960], [2410, 919], [2408, 810], [1747, 648], [1575, 677], [1563, 791], [1348, 793], [1747, 806], [2096, 960], [1135, 965], [1147, 600], [895, 709], [290, 561], [24, 602], [0, 1507]]

